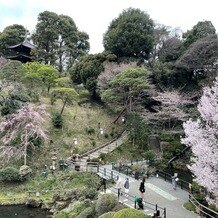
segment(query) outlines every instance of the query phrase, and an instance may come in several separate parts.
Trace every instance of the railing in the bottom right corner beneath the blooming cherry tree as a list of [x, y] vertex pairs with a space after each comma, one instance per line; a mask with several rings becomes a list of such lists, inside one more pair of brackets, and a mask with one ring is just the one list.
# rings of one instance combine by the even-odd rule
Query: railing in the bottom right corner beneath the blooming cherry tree
[[201, 217], [218, 218], [218, 213], [200, 204], [192, 194], [189, 194], [189, 201], [197, 208]]

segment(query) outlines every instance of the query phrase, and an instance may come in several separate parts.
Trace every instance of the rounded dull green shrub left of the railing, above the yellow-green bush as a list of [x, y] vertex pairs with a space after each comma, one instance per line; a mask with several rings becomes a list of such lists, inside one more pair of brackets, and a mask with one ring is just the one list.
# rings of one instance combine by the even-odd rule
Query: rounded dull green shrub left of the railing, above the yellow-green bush
[[117, 204], [117, 197], [114, 194], [104, 194], [98, 198], [95, 210], [98, 215], [102, 215], [111, 211]]

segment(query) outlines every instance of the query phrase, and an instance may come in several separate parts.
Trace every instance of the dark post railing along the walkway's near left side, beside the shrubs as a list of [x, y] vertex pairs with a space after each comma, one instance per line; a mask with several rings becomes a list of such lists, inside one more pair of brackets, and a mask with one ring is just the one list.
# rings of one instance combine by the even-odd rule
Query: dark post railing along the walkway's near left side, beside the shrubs
[[[97, 172], [98, 172], [98, 175], [107, 179], [107, 180], [113, 180], [113, 181], [116, 181], [117, 178], [119, 177], [119, 173], [113, 171], [113, 170], [110, 170], [110, 169], [107, 169], [107, 168], [103, 168], [103, 167], [97, 167]], [[117, 189], [116, 188], [112, 188], [111, 189], [115, 194], [118, 193]], [[127, 199], [132, 201], [136, 207], [136, 202], [134, 201], [134, 196], [132, 195], [129, 195], [129, 194], [126, 194], [124, 192], [121, 191], [121, 193], [123, 193], [123, 195], [125, 194], [127, 196]], [[158, 206], [157, 204], [152, 204], [148, 201], [143, 201], [144, 203], [144, 206], [148, 209], [150, 209], [152, 212], [156, 213], [156, 214], [160, 214], [162, 217], [166, 218], [166, 208], [163, 208], [163, 207], [160, 207]]]

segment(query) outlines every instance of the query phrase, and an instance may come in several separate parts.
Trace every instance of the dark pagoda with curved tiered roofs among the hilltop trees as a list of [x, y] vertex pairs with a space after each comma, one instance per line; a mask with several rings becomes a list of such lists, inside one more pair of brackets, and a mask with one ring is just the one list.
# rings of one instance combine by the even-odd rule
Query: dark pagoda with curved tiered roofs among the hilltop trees
[[30, 62], [32, 61], [31, 50], [33, 48], [36, 48], [36, 46], [27, 40], [17, 45], [9, 46], [8, 49], [11, 50], [11, 55], [7, 58], [11, 60], [17, 60], [22, 63]]

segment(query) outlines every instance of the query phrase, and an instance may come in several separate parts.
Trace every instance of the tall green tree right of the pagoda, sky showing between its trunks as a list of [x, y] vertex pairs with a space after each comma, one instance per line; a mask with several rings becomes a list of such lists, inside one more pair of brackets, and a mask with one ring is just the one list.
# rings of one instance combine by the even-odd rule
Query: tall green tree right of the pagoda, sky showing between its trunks
[[89, 51], [88, 38], [78, 30], [71, 17], [50, 11], [39, 14], [32, 35], [37, 45], [35, 56], [56, 66], [60, 72], [69, 69], [77, 58]]

